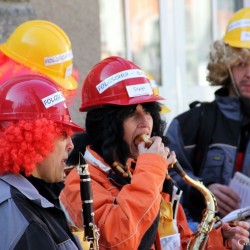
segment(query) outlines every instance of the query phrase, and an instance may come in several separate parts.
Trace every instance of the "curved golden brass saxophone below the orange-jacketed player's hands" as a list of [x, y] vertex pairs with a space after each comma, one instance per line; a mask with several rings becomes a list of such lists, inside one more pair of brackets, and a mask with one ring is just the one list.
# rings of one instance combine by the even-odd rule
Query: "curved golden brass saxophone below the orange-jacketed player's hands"
[[177, 160], [173, 164], [173, 169], [182, 177], [185, 182], [196, 188], [204, 196], [206, 209], [203, 213], [201, 223], [198, 226], [198, 230], [192, 236], [187, 247], [187, 249], [190, 250], [203, 250], [205, 249], [209, 237], [208, 233], [213, 229], [214, 223], [219, 220], [218, 217], [215, 217], [215, 213], [217, 212], [216, 199], [212, 192], [210, 192], [210, 190], [208, 190], [202, 184], [202, 182], [189, 177]]

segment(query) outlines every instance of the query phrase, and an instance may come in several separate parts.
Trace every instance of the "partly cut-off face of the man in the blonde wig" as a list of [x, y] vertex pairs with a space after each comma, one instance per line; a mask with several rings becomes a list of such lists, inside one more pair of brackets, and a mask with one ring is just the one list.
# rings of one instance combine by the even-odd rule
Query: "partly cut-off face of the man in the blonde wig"
[[245, 98], [250, 98], [250, 64], [240, 63], [232, 67], [232, 73], [240, 95]]

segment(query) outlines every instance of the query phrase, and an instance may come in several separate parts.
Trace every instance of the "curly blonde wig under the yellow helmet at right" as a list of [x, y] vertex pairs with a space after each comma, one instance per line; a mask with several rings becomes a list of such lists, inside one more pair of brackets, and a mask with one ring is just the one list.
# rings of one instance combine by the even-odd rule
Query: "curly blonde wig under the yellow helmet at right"
[[209, 54], [207, 81], [212, 86], [230, 84], [228, 68], [232, 68], [239, 63], [250, 63], [249, 49], [234, 48], [225, 44], [222, 40], [215, 41]]

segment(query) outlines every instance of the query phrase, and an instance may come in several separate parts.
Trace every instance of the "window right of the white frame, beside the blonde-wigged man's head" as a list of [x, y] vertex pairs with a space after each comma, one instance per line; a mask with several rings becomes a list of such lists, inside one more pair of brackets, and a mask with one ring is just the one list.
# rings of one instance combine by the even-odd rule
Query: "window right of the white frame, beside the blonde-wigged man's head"
[[233, 0], [185, 0], [187, 85], [208, 85], [206, 67], [210, 45], [223, 37], [228, 20], [242, 4]]

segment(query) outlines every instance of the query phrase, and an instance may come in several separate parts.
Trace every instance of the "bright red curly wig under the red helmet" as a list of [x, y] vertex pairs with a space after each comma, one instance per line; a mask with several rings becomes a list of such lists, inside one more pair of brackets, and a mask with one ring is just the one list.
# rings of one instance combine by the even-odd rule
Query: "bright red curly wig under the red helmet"
[[0, 174], [29, 176], [35, 164], [54, 150], [55, 140], [71, 136], [69, 126], [48, 119], [2, 122], [0, 128]]

